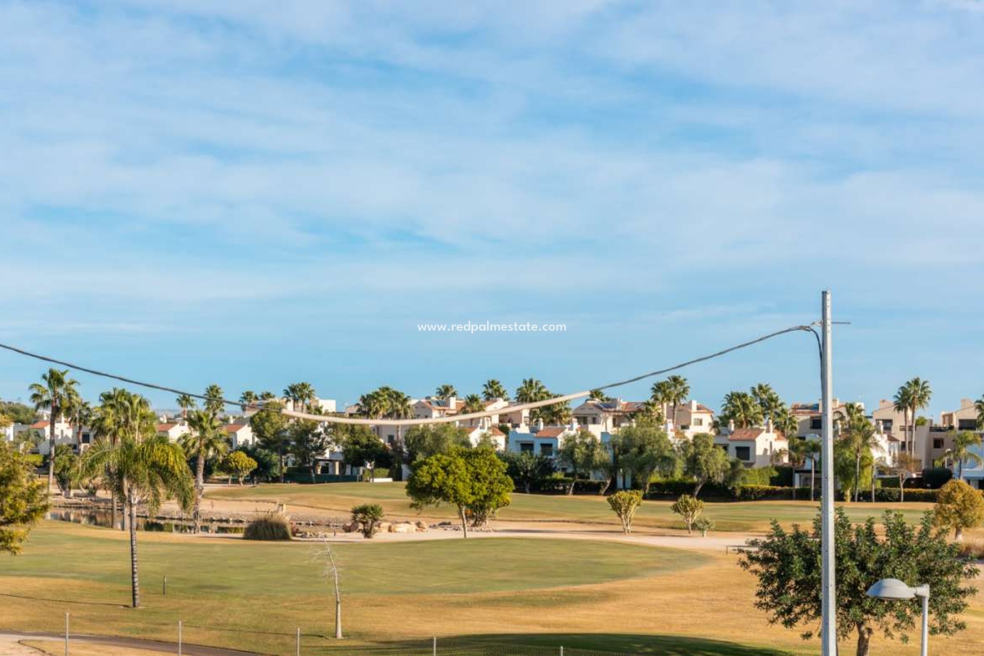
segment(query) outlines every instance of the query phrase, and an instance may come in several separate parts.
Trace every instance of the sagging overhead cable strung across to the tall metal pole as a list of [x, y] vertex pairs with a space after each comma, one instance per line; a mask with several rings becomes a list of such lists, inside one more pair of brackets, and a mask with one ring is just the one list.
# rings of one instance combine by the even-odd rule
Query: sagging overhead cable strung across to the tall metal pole
[[[813, 332], [814, 335], [817, 334], [816, 333], [816, 330], [814, 330], [810, 326], [793, 326], [793, 327], [790, 327], [790, 328], [783, 328], [781, 330], [776, 330], [775, 332], [769, 332], [769, 334], [765, 334], [765, 335], [762, 335], [760, 337], [756, 337], [755, 339], [750, 339], [748, 341], [743, 341], [740, 344], [735, 344], [734, 346], [729, 346], [728, 348], [722, 349], [720, 351], [716, 351], [714, 353], [710, 353], [709, 355], [703, 355], [703, 356], [701, 356], [699, 358], [694, 358], [692, 360], [687, 360], [686, 362], [681, 362], [680, 364], [673, 365], [672, 367], [666, 367], [665, 369], [657, 369], [656, 371], [651, 371], [651, 372], [648, 372], [646, 374], [641, 374], [639, 376], [635, 376], [633, 378], [626, 379], [624, 381], [618, 381], [616, 383], [609, 383], [608, 385], [603, 385], [603, 386], [600, 386], [600, 387], [597, 387], [597, 388], [591, 388], [591, 389], [619, 388], [619, 387], [622, 387], [622, 386], [625, 386], [625, 385], [629, 385], [631, 383], [638, 383], [639, 381], [642, 381], [642, 380], [647, 379], [647, 378], [652, 378], [653, 376], [660, 376], [662, 374], [667, 374], [669, 372], [676, 371], [678, 369], [683, 369], [684, 367], [689, 367], [690, 365], [698, 364], [700, 362], [706, 362], [707, 360], [712, 360], [714, 358], [719, 358], [719, 357], [721, 357], [723, 355], [727, 355], [728, 353], [732, 353], [734, 351], [737, 351], [737, 350], [740, 350], [740, 349], [743, 349], [743, 348], [748, 348], [749, 346], [753, 346], [755, 344], [761, 343], [761, 342], [766, 341], [768, 339], [771, 339], [773, 337], [778, 337], [779, 335], [786, 334], [787, 332], [797, 332], [797, 331], [802, 331], [802, 330], [808, 330], [810, 332]], [[818, 343], [819, 343], [819, 341], [818, 341]], [[59, 359], [52, 358], [52, 357], [49, 357], [49, 356], [46, 356], [46, 355], [40, 355], [38, 353], [32, 353], [31, 351], [27, 351], [27, 350], [25, 350], [23, 348], [18, 348], [17, 346], [12, 346], [10, 344], [0, 343], [0, 348], [6, 349], [6, 350], [11, 351], [13, 353], [17, 353], [19, 355], [23, 355], [25, 357], [33, 358], [35, 360], [41, 360], [42, 362], [48, 362], [48, 363], [51, 363], [51, 364], [60, 365], [62, 367], [66, 367], [68, 369], [72, 369], [72, 370], [75, 370], [75, 371], [81, 371], [81, 372], [85, 372], [87, 374], [92, 374], [92, 376], [98, 376], [98, 377], [101, 377], [101, 378], [107, 378], [107, 379], [110, 379], [110, 380], [113, 380], [113, 381], [119, 381], [121, 383], [127, 383], [129, 385], [134, 385], [134, 386], [137, 386], [137, 387], [140, 387], [140, 388], [157, 389], [159, 391], [168, 391], [168, 392], [171, 392], [173, 394], [178, 394], [178, 395], [180, 395], [180, 394], [187, 394], [188, 396], [191, 396], [192, 398], [198, 398], [198, 399], [202, 399], [202, 400], [219, 400], [219, 399], [212, 399], [212, 398], [206, 396], [205, 394], [197, 394], [197, 393], [193, 393], [193, 392], [190, 392], [190, 391], [184, 391], [182, 389], [169, 388], [167, 386], [157, 385], [157, 384], [154, 384], [154, 383], [146, 383], [144, 381], [137, 381], [135, 379], [126, 378], [124, 376], [119, 376], [117, 374], [111, 374], [111, 373], [108, 373], [108, 372], [99, 371], [97, 369], [92, 369], [90, 367], [83, 367], [81, 365], [77, 365], [77, 364], [74, 364], [74, 363], [71, 363], [71, 362], [66, 362], [64, 360], [59, 360]], [[576, 391], [574, 393], [563, 394], [563, 395], [560, 395], [560, 396], [553, 396], [551, 398], [545, 398], [545, 399], [539, 400], [539, 401], [530, 401], [528, 403], [518, 403], [516, 405], [507, 405], [505, 407], [495, 408], [495, 409], [492, 409], [492, 410], [482, 410], [480, 412], [469, 412], [469, 413], [466, 413], [466, 414], [456, 414], [456, 415], [450, 415], [450, 416], [446, 416], [446, 417], [432, 417], [432, 418], [425, 418], [425, 419], [388, 419], [388, 418], [348, 417], [348, 416], [340, 416], [339, 417], [339, 416], [333, 416], [333, 415], [318, 415], [318, 414], [313, 414], [313, 413], [308, 413], [308, 412], [297, 412], [296, 410], [287, 410], [286, 408], [280, 408], [280, 413], [283, 414], [283, 415], [286, 415], [288, 417], [296, 417], [298, 419], [310, 419], [310, 420], [313, 420], [313, 421], [325, 422], [325, 423], [329, 423], [329, 424], [354, 424], [354, 425], [364, 425], [364, 426], [377, 426], [377, 425], [380, 425], [380, 424], [385, 424], [387, 426], [421, 426], [421, 425], [424, 425], [424, 424], [447, 424], [447, 423], [459, 422], [459, 421], [464, 421], [464, 420], [469, 420], [469, 419], [481, 419], [483, 417], [490, 417], [492, 415], [512, 414], [514, 412], [520, 412], [520, 411], [523, 411], [523, 410], [531, 410], [533, 408], [544, 407], [546, 405], [554, 405], [556, 403], [566, 403], [566, 402], [572, 401], [572, 400], [574, 400], [576, 398], [583, 398], [584, 396], [587, 396], [588, 394], [591, 393], [591, 389], [585, 389], [584, 391]], [[228, 400], [228, 399], [225, 399], [225, 398], [222, 398], [220, 400], [223, 403], [225, 403], [226, 405], [238, 405], [240, 407], [243, 407], [243, 403], [241, 403], [240, 401], [233, 401], [233, 400]], [[247, 414], [250, 414], [251, 412], [256, 412], [256, 411], [259, 411], [259, 410], [263, 409], [263, 405], [261, 405], [260, 403], [262, 403], [262, 401], [261, 402], [256, 402], [256, 403], [247, 404], [245, 406], [246, 407]]]

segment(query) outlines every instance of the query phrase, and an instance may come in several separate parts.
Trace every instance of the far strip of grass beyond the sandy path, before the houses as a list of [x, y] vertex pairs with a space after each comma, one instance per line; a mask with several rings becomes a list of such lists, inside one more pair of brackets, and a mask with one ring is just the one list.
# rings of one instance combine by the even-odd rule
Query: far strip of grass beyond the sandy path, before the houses
[[[348, 510], [359, 504], [375, 502], [383, 506], [387, 514], [396, 517], [413, 517], [417, 513], [409, 505], [402, 483], [328, 483], [322, 485], [260, 485], [257, 487], [230, 487], [210, 489], [210, 499], [282, 502], [289, 507], [318, 508], [328, 514], [346, 516]], [[670, 501], [647, 501], [636, 515], [641, 526], [683, 528], [684, 524], [670, 510]], [[932, 507], [931, 504], [842, 504], [856, 521], [869, 515], [881, 516], [886, 509], [898, 510], [910, 520]], [[708, 503], [707, 517], [714, 520], [717, 530], [764, 531], [769, 520], [778, 519], [783, 524], [799, 522], [809, 524], [817, 513], [819, 504], [805, 502], [746, 502]], [[428, 508], [427, 516], [455, 518], [447, 507]], [[513, 494], [510, 507], [499, 512], [501, 519], [583, 521], [616, 524], [618, 520], [602, 497], [548, 496]]]

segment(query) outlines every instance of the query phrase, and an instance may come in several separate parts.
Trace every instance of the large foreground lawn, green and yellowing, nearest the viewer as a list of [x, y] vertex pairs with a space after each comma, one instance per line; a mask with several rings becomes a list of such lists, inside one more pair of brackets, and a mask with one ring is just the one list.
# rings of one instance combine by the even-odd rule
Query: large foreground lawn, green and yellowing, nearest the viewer
[[[0, 626], [59, 631], [68, 611], [73, 632], [174, 640], [180, 619], [189, 643], [279, 654], [292, 653], [296, 627], [305, 654], [423, 645], [431, 635], [444, 645], [468, 636], [680, 656], [817, 653], [816, 642], [769, 626], [754, 609], [754, 579], [733, 556], [519, 538], [338, 545], [347, 636], [339, 644], [324, 637], [334, 604], [316, 544], [140, 540], [144, 608], [133, 610], [123, 533], [42, 522], [23, 555], [0, 558]], [[967, 631], [933, 638], [938, 653], [979, 653], [984, 607], [974, 604]], [[916, 647], [876, 641], [873, 653]]]

